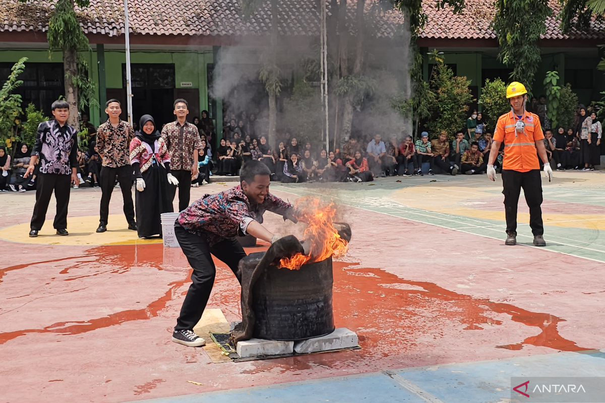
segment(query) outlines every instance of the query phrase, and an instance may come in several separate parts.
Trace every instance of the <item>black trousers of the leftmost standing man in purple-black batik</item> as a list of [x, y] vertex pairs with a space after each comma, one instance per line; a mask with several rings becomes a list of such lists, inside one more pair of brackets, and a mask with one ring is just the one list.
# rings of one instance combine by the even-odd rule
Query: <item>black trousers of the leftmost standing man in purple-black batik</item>
[[39, 231], [44, 225], [50, 196], [57, 200], [57, 213], [54, 216], [53, 227], [56, 230], [67, 228], [67, 206], [70, 204], [71, 175], [59, 173], [41, 173], [36, 178], [36, 205], [31, 216], [30, 228]]

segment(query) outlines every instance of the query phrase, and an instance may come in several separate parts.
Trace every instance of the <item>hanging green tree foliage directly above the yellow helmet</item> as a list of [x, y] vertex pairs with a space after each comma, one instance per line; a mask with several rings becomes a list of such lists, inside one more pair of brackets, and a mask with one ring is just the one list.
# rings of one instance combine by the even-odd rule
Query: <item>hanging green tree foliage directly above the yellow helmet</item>
[[529, 93], [541, 55], [538, 40], [546, 33], [546, 18], [552, 14], [548, 0], [496, 0], [492, 29], [498, 36], [498, 59], [512, 65], [511, 79], [522, 82]]

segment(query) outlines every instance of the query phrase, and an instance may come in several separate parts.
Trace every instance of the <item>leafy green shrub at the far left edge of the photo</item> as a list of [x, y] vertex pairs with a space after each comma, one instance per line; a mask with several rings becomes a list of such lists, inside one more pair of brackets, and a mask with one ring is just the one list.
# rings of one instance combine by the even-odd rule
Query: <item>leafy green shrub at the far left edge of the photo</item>
[[15, 141], [19, 126], [21, 126], [19, 120], [23, 112], [21, 95], [13, 94], [13, 92], [23, 83], [18, 77], [25, 69], [25, 62], [27, 62], [27, 57], [22, 57], [13, 65], [8, 79], [0, 89], [0, 141], [9, 149]]

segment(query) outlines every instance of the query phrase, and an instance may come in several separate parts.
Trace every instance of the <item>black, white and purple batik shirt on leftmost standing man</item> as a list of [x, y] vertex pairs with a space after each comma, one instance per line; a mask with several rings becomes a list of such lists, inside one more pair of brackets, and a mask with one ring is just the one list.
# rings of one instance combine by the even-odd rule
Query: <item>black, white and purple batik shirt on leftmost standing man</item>
[[67, 123], [63, 126], [55, 120], [40, 123], [31, 150], [31, 155], [40, 160], [40, 173], [71, 175], [71, 169], [78, 166], [76, 141], [76, 129]]

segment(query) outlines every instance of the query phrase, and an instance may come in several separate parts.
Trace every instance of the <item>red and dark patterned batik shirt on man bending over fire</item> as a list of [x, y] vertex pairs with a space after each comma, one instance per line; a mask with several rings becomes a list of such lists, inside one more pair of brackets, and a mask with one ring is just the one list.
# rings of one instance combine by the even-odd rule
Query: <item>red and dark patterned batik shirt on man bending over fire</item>
[[215, 245], [221, 240], [246, 235], [252, 221], [262, 224], [267, 210], [285, 216], [292, 204], [267, 193], [262, 204], [250, 204], [238, 185], [215, 195], [204, 195], [178, 216], [178, 224]]

